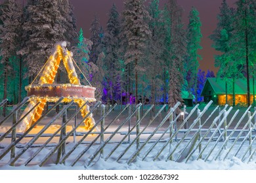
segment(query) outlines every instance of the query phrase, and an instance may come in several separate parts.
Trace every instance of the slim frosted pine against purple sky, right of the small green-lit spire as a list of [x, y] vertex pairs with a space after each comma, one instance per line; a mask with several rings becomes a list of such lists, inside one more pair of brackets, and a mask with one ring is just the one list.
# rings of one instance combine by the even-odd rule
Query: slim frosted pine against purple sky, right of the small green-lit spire
[[98, 59], [98, 46], [101, 43], [100, 38], [100, 23], [98, 22], [98, 16], [95, 15], [95, 19], [91, 24], [91, 37], [90, 40], [93, 42], [93, 46], [91, 48], [90, 61], [96, 63]]

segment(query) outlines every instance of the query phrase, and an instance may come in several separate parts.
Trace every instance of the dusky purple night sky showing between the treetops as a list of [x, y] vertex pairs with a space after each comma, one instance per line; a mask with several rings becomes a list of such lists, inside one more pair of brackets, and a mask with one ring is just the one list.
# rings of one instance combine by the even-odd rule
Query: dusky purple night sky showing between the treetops
[[[167, 0], [160, 0], [160, 5]], [[178, 0], [178, 4], [184, 9], [183, 21], [185, 27], [188, 24], [188, 14], [191, 7], [196, 7], [200, 13], [200, 20], [202, 22], [202, 42], [203, 47], [199, 54], [202, 56], [200, 60], [200, 69], [207, 71], [210, 69], [217, 73], [218, 68], [214, 67], [214, 55], [218, 54], [214, 48], [211, 47], [212, 41], [208, 38], [217, 25], [217, 14], [219, 14], [219, 7], [223, 0]], [[77, 29], [83, 28], [85, 37], [90, 37], [89, 27], [93, 21], [94, 15], [97, 14], [100, 19], [102, 27], [106, 26], [108, 21], [108, 12], [113, 3], [116, 3], [117, 10], [123, 10], [123, 0], [70, 0], [75, 8], [75, 16], [77, 18]], [[235, 7], [236, 0], [226, 0], [228, 5]]]

